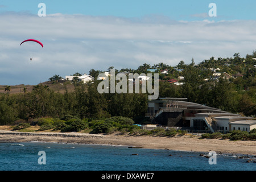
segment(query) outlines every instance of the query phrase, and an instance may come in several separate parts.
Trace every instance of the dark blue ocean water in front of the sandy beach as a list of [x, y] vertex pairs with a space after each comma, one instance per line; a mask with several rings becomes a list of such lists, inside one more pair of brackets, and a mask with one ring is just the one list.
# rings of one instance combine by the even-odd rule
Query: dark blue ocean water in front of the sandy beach
[[[44, 151], [43, 155], [38, 155]], [[138, 155], [133, 155], [138, 154]], [[172, 156], [170, 156], [170, 154]], [[65, 143], [0, 143], [0, 171], [255, 171], [253, 156]], [[245, 155], [241, 155], [245, 156]], [[45, 164], [39, 164], [45, 161]], [[42, 160], [41, 160], [42, 159]]]

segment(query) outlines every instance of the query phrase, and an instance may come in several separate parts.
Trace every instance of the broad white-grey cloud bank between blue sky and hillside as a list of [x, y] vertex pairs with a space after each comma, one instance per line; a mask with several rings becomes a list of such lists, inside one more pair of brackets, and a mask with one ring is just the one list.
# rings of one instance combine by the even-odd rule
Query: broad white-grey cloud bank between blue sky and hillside
[[[201, 62], [235, 52], [245, 56], [256, 42], [253, 20], [177, 22], [154, 15], [127, 19], [6, 13], [0, 14], [0, 24], [0, 76], [5, 77], [1, 85], [38, 84], [55, 74], [64, 77], [110, 66], [137, 69], [143, 63], [190, 63], [192, 57]], [[19, 46], [30, 38], [39, 39], [44, 48]]]

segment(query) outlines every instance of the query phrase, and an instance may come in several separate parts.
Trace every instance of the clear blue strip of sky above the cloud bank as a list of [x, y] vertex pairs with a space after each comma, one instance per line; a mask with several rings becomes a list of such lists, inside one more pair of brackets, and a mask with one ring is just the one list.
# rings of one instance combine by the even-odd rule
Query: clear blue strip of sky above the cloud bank
[[48, 14], [84, 14], [93, 16], [122, 16], [126, 18], [141, 17], [150, 14], [164, 15], [175, 20], [195, 20], [196, 14], [208, 13], [209, 3], [216, 3], [218, 17], [215, 19], [255, 19], [256, 1], [231, 0], [23, 0], [0, 1], [0, 12], [15, 11], [38, 13], [38, 4], [47, 6]]

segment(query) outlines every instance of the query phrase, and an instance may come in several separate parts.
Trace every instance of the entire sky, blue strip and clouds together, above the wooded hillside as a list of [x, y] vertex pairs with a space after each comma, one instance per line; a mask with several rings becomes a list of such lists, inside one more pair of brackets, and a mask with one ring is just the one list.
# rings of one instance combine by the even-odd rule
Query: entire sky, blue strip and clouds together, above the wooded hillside
[[[42, 2], [46, 17], [38, 16]], [[216, 17], [208, 15], [212, 2]], [[110, 66], [245, 57], [256, 49], [255, 7], [253, 0], [0, 0], [0, 85], [35, 85]], [[19, 46], [25, 39], [44, 48]]]

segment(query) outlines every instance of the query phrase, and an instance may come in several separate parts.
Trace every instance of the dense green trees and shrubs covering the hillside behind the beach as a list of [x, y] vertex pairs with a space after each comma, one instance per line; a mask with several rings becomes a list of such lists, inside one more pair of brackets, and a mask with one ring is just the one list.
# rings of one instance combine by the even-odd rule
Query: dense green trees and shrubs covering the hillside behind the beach
[[[156, 69], [159, 73], [159, 97], [185, 97], [190, 102], [216, 107], [232, 113], [240, 113], [255, 117], [256, 114], [256, 57], [252, 55], [245, 58], [235, 53], [232, 58], [211, 57], [209, 60], [195, 65], [184, 64], [180, 61], [176, 67], [159, 63], [156, 65], [143, 64], [138, 69], [121, 69], [116, 72], [151, 73], [147, 69]], [[110, 67], [111, 69], [113, 67]], [[239, 75], [229, 80], [218, 78], [211, 79], [211, 68], [219, 68], [218, 72], [226, 72], [229, 75]], [[160, 74], [163, 69], [168, 74]], [[182, 71], [180, 71], [182, 70]], [[11, 94], [11, 86], [6, 86], [6, 93], [0, 94], [0, 125], [10, 125], [38, 121], [39, 118], [49, 119], [42, 125], [42, 130], [56, 129], [61, 131], [79, 131], [85, 128], [93, 128], [93, 133], [104, 133], [110, 130], [121, 131], [133, 129], [130, 122], [124, 124], [122, 119], [114, 117], [130, 118], [135, 123], [146, 122], [144, 117], [147, 112], [147, 94], [100, 94], [97, 92], [97, 75], [102, 71], [91, 69], [89, 74], [96, 80], [89, 84], [81, 84], [77, 81], [66, 81], [64, 85], [73, 84], [75, 90], [65, 93], [54, 92], [46, 85], [36, 85], [32, 92]], [[77, 74], [77, 73], [76, 73]], [[179, 77], [184, 79], [180, 80]], [[59, 75], [49, 78], [52, 84], [59, 83]], [[170, 79], [184, 82], [183, 85], [170, 84]], [[205, 79], [208, 80], [205, 80]], [[67, 118], [71, 116], [72, 118]], [[110, 120], [108, 120], [110, 119]], [[40, 125], [40, 122], [39, 122]], [[17, 126], [16, 129], [26, 125]], [[169, 132], [170, 135], [171, 131]], [[168, 133], [167, 133], [168, 135]]]

